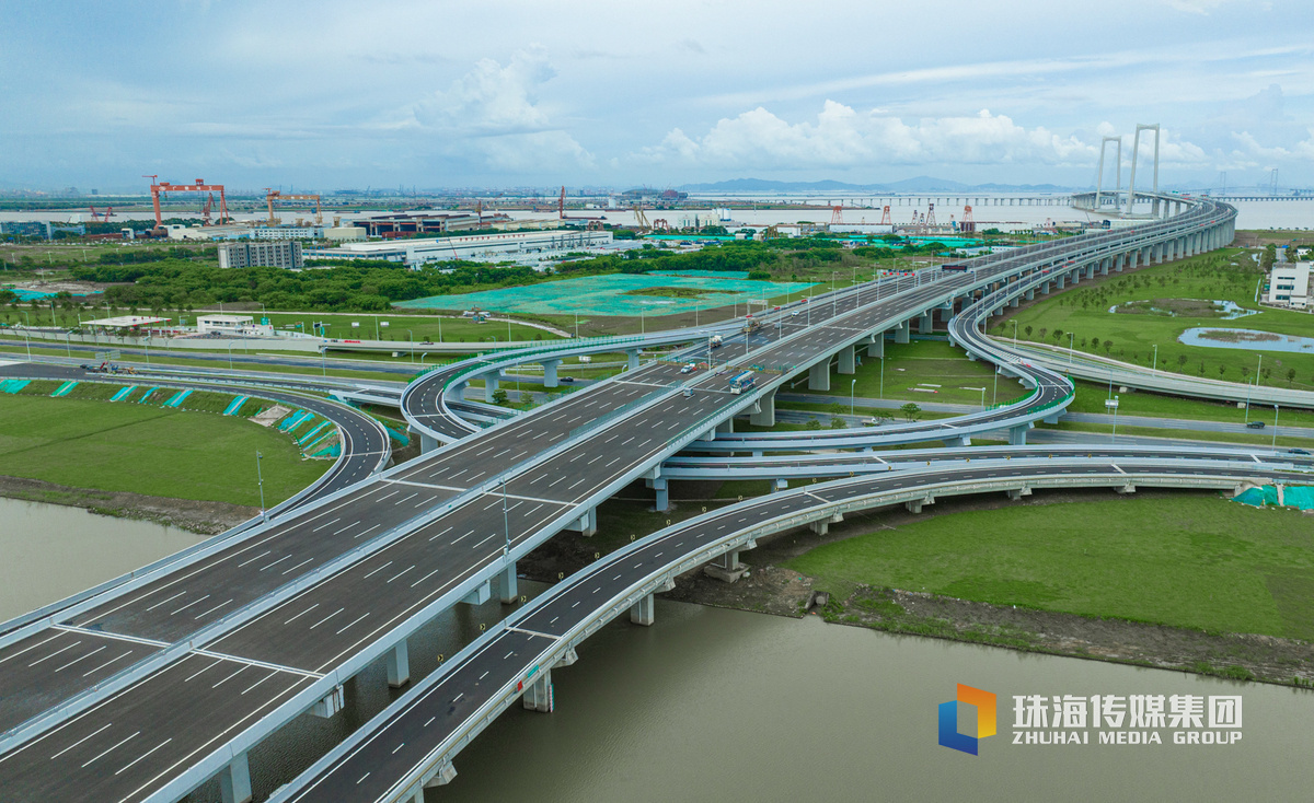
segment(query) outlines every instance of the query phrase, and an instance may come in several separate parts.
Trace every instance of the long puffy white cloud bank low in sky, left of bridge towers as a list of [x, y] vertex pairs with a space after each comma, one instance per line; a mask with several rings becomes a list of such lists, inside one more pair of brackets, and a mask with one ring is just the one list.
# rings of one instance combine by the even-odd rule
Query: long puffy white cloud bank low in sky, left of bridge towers
[[1093, 164], [1099, 147], [1045, 127], [1026, 129], [983, 109], [972, 117], [904, 122], [827, 101], [815, 121], [790, 123], [758, 106], [723, 118], [703, 136], [671, 130], [640, 161], [724, 168], [858, 168], [878, 164]]

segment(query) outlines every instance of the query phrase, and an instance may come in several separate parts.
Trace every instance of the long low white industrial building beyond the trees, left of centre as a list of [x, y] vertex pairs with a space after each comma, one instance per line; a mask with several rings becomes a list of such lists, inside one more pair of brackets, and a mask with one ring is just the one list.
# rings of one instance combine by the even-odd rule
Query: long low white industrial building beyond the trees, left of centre
[[520, 231], [382, 243], [346, 243], [338, 248], [311, 248], [306, 251], [306, 256], [319, 260], [388, 260], [417, 268], [426, 262], [444, 260], [501, 261], [527, 253], [581, 251], [611, 243], [610, 231]]

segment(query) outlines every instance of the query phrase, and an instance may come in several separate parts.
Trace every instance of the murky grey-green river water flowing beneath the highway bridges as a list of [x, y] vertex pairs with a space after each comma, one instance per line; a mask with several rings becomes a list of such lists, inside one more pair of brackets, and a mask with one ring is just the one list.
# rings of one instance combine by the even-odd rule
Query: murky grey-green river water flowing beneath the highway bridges
[[[34, 607], [196, 537], [54, 505], [0, 500], [5, 605]], [[41, 533], [32, 538], [32, 533]], [[42, 548], [35, 548], [37, 546]], [[49, 548], [47, 547], [53, 547]], [[45, 555], [50, 551], [50, 555]], [[58, 556], [57, 556], [58, 554]], [[75, 579], [76, 577], [76, 579]], [[524, 584], [532, 594], [537, 584]], [[411, 640], [432, 670], [505, 609], [457, 606]], [[657, 623], [604, 627], [553, 672], [556, 712], [507, 711], [456, 757], [430, 803], [566, 800], [1307, 799], [1314, 693], [658, 601]], [[999, 699], [999, 735], [970, 756], [937, 744], [957, 684]], [[392, 698], [382, 668], [348, 684], [346, 711], [302, 716], [252, 752], [258, 796]], [[1240, 695], [1240, 741], [1013, 744], [1013, 695]], [[972, 732], [971, 709], [959, 732]], [[1123, 723], [1126, 724], [1126, 723]], [[1114, 731], [1131, 731], [1122, 727]], [[1135, 728], [1142, 731], [1142, 728]], [[1205, 728], [1208, 730], [1208, 728]], [[1046, 730], [1046, 733], [1051, 730]], [[1230, 733], [1234, 731], [1214, 730]], [[217, 785], [192, 800], [217, 799]]]

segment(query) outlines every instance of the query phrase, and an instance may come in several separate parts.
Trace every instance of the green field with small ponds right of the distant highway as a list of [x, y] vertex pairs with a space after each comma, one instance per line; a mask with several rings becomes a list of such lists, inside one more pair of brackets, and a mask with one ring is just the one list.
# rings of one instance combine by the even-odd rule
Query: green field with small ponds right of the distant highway
[[[1279, 335], [1307, 336], [1314, 329], [1314, 318], [1309, 314], [1271, 310], [1255, 303], [1255, 291], [1263, 276], [1248, 252], [1240, 249], [1213, 252], [1127, 274], [1113, 273], [1084, 281], [1021, 310], [1009, 319], [995, 323], [989, 332], [1000, 337], [1012, 337], [1014, 331], [1012, 321], [1016, 320], [1020, 341], [1031, 340], [1067, 346], [1068, 333], [1072, 333], [1071, 342], [1076, 349], [1123, 362], [1155, 365], [1160, 370], [1190, 377], [1202, 375], [1230, 382], [1254, 381], [1255, 370], [1260, 367], [1260, 352], [1190, 346], [1177, 342], [1177, 336], [1193, 327], [1259, 329]], [[1260, 312], [1235, 320], [1198, 316], [1194, 314], [1198, 311], [1198, 304], [1183, 304], [1177, 299], [1230, 300], [1246, 310], [1260, 310]], [[1168, 316], [1123, 311], [1122, 304], [1129, 302], [1142, 302], [1142, 307], [1151, 304], [1162, 310], [1180, 307], [1181, 314]], [[1120, 311], [1109, 312], [1110, 307], [1118, 307]], [[1063, 332], [1062, 337], [1056, 339], [1055, 332]], [[1099, 340], [1097, 349], [1092, 339]], [[1108, 349], [1105, 342], [1109, 344]], [[1264, 352], [1263, 356], [1263, 384], [1314, 390], [1314, 354]]]

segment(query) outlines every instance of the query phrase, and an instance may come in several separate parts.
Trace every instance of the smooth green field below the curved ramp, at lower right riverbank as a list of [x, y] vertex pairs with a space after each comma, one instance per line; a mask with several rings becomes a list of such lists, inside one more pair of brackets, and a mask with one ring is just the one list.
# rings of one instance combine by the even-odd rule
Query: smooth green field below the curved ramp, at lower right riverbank
[[1314, 527], [1221, 497], [1120, 499], [954, 513], [786, 563], [858, 584], [1223, 632], [1314, 639]]

